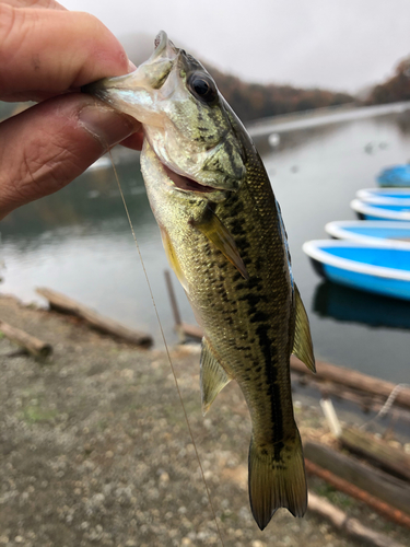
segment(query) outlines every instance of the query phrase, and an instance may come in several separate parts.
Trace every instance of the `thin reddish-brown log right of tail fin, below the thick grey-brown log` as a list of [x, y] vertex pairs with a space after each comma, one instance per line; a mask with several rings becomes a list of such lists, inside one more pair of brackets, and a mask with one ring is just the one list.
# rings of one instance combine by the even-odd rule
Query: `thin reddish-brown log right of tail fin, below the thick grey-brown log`
[[400, 524], [400, 526], [410, 528], [410, 516], [405, 514], [402, 511], [393, 508], [389, 503], [386, 503], [379, 498], [365, 492], [361, 488], [358, 488], [355, 485], [351, 485], [350, 482], [336, 476], [328, 469], [324, 469], [319, 465], [314, 464], [306, 457], [305, 466], [306, 473], [316, 475], [323, 480], [326, 480], [326, 482], [328, 482], [329, 485], [333, 486], [337, 490], [340, 490], [341, 492], [344, 492], [348, 496], [351, 496], [352, 498], [366, 503], [366, 505], [372, 508], [376, 513], [380, 514], [385, 519], [388, 519], [396, 524]]

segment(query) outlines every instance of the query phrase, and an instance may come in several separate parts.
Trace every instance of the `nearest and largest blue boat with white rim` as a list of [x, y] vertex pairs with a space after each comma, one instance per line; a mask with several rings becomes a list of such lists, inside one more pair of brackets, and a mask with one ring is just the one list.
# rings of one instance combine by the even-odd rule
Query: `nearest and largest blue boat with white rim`
[[349, 240], [304, 243], [315, 271], [336, 283], [396, 299], [410, 300], [410, 248], [391, 242]]

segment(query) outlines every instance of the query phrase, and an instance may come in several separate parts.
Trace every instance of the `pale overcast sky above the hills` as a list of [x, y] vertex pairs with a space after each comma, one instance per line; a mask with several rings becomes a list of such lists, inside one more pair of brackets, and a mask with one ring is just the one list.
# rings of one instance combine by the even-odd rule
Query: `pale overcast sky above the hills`
[[248, 81], [356, 92], [410, 55], [410, 0], [60, 0], [121, 38], [164, 30]]

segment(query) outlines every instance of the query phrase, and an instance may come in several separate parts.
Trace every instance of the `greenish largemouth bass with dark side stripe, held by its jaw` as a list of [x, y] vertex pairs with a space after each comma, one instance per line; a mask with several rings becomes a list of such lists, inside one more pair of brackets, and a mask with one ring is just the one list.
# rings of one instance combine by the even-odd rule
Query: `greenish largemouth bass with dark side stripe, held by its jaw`
[[286, 233], [247, 131], [194, 57], [160, 33], [134, 72], [83, 91], [143, 124], [141, 168], [164, 247], [198, 323], [202, 409], [238, 383], [249, 408], [249, 498], [263, 529], [307, 505], [290, 357], [315, 370]]

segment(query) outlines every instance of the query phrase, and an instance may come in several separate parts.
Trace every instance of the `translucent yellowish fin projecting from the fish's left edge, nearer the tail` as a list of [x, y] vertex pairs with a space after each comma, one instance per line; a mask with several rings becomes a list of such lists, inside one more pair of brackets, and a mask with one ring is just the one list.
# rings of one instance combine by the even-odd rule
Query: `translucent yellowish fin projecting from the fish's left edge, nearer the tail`
[[231, 382], [231, 377], [214, 358], [207, 338], [202, 338], [200, 366], [202, 414], [204, 416], [220, 391]]

